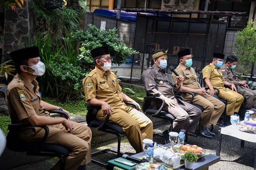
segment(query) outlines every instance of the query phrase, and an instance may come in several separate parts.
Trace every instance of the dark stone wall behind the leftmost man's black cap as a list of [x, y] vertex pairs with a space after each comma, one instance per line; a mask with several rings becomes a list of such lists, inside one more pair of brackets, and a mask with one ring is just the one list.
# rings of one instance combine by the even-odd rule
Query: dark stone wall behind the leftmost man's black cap
[[33, 0], [27, 0], [22, 8], [17, 7], [16, 11], [6, 8], [2, 63], [10, 58], [8, 56], [9, 52], [30, 46], [30, 35], [33, 35], [35, 30], [32, 5]]

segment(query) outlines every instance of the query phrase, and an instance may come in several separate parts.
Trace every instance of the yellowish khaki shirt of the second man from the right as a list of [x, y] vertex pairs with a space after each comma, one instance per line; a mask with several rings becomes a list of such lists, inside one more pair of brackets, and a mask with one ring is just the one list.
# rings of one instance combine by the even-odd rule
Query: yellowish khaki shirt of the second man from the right
[[202, 77], [209, 78], [212, 86], [219, 89], [225, 89], [222, 70], [220, 68], [217, 68], [212, 63], [210, 63], [209, 65], [206, 65], [202, 69]]

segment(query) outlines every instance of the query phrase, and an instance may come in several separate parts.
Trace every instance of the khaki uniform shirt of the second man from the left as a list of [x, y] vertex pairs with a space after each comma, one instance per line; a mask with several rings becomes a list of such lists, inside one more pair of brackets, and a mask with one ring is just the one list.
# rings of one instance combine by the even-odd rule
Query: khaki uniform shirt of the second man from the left
[[86, 78], [83, 79], [83, 88], [86, 101], [96, 98], [108, 105], [122, 103], [121, 86], [111, 71], [102, 72], [95, 67]]

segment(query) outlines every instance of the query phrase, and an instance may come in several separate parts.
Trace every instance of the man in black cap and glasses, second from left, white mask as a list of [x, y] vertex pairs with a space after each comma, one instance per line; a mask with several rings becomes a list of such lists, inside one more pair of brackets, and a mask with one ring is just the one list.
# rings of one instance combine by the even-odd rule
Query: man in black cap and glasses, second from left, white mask
[[108, 46], [91, 50], [95, 69], [83, 79], [83, 87], [88, 105], [101, 106], [97, 113], [99, 120], [104, 120], [110, 114], [109, 122], [123, 128], [130, 144], [136, 153], [142, 152], [145, 138], [153, 139], [153, 124], [140, 111], [128, 107], [124, 102], [136, 103], [121, 92], [121, 86], [115, 74], [109, 71], [111, 56]]

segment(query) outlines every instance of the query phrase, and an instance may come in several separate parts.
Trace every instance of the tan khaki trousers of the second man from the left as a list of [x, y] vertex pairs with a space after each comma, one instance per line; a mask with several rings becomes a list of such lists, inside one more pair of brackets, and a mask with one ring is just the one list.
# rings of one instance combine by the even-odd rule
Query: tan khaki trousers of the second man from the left
[[[113, 112], [109, 122], [118, 124], [123, 128], [129, 143], [136, 150], [136, 153], [144, 151], [142, 140], [145, 138], [153, 139], [152, 121], [142, 112], [128, 107], [124, 103], [110, 106]], [[103, 116], [102, 110], [97, 113], [97, 118], [101, 121], [106, 118], [106, 116]]]

